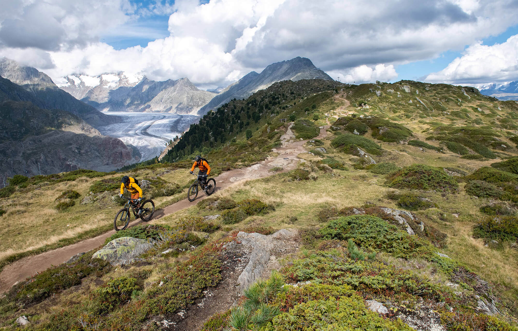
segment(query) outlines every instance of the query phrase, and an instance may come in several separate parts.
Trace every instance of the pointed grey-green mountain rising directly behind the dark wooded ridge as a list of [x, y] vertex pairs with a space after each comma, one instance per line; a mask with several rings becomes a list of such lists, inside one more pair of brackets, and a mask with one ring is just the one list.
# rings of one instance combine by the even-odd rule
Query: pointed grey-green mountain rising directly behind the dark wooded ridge
[[291, 80], [298, 81], [301, 79], [319, 78], [324, 80], [333, 80], [324, 71], [316, 68], [309, 58], [295, 57], [289, 61], [281, 61], [270, 64], [261, 73], [252, 71], [241, 78], [236, 83], [229, 85], [221, 94], [215, 96], [207, 103], [199, 114], [205, 115], [209, 110], [218, 108], [234, 98], [248, 98], [254, 92], [265, 89], [275, 82]]

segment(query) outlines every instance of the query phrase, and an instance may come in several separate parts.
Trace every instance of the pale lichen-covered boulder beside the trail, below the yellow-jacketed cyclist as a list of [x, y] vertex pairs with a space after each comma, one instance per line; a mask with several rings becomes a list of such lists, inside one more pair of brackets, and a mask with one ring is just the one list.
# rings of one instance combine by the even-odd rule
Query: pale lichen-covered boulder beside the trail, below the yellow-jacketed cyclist
[[102, 249], [96, 251], [92, 258], [103, 259], [112, 265], [130, 264], [139, 261], [138, 257], [153, 248], [153, 244], [144, 239], [120, 237], [111, 240]]

